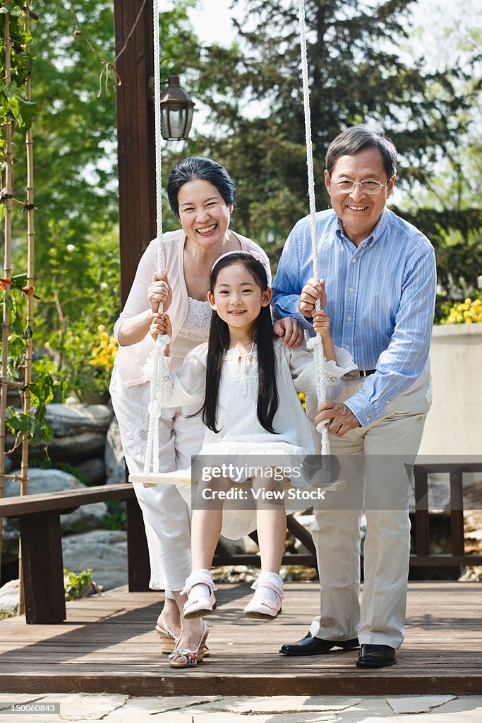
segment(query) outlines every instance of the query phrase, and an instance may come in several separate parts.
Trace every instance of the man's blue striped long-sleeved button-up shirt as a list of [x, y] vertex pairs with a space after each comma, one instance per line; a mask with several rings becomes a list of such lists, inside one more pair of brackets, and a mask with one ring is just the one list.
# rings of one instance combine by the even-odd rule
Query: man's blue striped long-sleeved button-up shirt
[[[426, 236], [387, 208], [356, 247], [335, 211], [317, 213], [319, 275], [326, 282], [333, 342], [359, 369], [376, 369], [346, 404], [362, 427], [390, 413], [390, 402], [423, 372], [429, 356], [436, 294], [434, 249]], [[296, 317], [313, 277], [309, 217], [291, 231], [273, 282], [278, 317]]]

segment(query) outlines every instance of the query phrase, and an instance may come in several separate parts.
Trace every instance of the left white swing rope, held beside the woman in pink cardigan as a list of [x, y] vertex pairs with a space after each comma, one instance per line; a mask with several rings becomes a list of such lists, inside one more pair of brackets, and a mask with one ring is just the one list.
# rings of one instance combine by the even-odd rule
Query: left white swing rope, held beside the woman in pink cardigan
[[[154, 20], [154, 127], [155, 127], [155, 198], [156, 198], [156, 239], [158, 248], [158, 271], [164, 270], [163, 255], [163, 176], [162, 176], [162, 141], [160, 134], [160, 40], [159, 40], [159, 7], [158, 0], [152, 2]], [[159, 312], [163, 312], [162, 302]], [[160, 334], [155, 340], [152, 352], [152, 379], [150, 382], [149, 401], [149, 429], [147, 432], [146, 456], [144, 474], [149, 476], [159, 472], [159, 419], [163, 407], [164, 385], [164, 352], [170, 342], [165, 334]]]

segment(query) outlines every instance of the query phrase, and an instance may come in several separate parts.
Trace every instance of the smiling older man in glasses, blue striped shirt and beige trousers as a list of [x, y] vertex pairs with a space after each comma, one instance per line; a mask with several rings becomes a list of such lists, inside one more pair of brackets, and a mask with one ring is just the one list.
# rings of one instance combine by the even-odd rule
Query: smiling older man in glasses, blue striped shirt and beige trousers
[[307, 330], [321, 299], [334, 343], [353, 354], [359, 369], [343, 378], [340, 396], [320, 406], [315, 418], [329, 425], [330, 453], [346, 484], [315, 510], [320, 614], [303, 640], [280, 652], [324, 654], [360, 644], [357, 665], [369, 668], [395, 664], [403, 642], [410, 463], [431, 400], [434, 249], [386, 208], [396, 171], [396, 149], [387, 137], [363, 126], [337, 136], [324, 171], [332, 209], [317, 213], [322, 279], [311, 278], [310, 222], [304, 218], [286, 241], [273, 283], [277, 315], [292, 315]]

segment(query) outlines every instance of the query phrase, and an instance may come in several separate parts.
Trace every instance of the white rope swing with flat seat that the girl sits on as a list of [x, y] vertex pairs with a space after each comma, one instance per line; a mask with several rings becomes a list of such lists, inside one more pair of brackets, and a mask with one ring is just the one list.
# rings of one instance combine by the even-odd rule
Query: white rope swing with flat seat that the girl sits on
[[[154, 106], [155, 106], [155, 178], [156, 178], [156, 211], [157, 211], [157, 244], [158, 270], [164, 270], [163, 260], [163, 209], [162, 209], [162, 175], [161, 175], [161, 134], [160, 134], [160, 42], [159, 42], [159, 9], [158, 0], [153, 0], [154, 14]], [[309, 215], [311, 226], [311, 252], [313, 256], [314, 278], [319, 277], [317, 217], [314, 196], [313, 147], [311, 144], [311, 116], [309, 110], [308, 61], [306, 56], [305, 12], [304, 0], [298, 0], [298, 22], [301, 46], [301, 72], [303, 79], [304, 119], [306, 135], [306, 166], [308, 172]], [[321, 309], [317, 299], [316, 309]], [[162, 313], [162, 304], [160, 305]], [[130, 474], [129, 482], [143, 482], [145, 487], [156, 484], [191, 484], [189, 470], [178, 470], [159, 473], [159, 419], [163, 406], [163, 356], [166, 345], [171, 341], [166, 335], [159, 335], [152, 352], [153, 369], [150, 386], [149, 429], [147, 432], [147, 449], [143, 474]], [[326, 380], [324, 375], [323, 341], [319, 333], [310, 339], [307, 347], [312, 349], [317, 382], [318, 406], [326, 401]], [[322, 457], [330, 460], [330, 441], [328, 439], [328, 423], [320, 422], [317, 431], [322, 437]], [[328, 465], [329, 466], [329, 465]], [[324, 479], [328, 480], [329, 469], [324, 469]], [[341, 483], [344, 484], [344, 483]], [[336, 486], [336, 485], [335, 485]], [[334, 486], [331, 486], [334, 489]]]

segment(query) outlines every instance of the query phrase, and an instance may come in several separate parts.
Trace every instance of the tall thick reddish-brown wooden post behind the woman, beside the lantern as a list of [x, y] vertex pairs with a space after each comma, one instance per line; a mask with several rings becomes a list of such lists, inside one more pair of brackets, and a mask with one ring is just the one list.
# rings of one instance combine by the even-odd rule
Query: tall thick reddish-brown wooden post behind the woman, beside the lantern
[[[142, 0], [114, 0], [116, 55], [136, 22]], [[124, 305], [142, 252], [155, 238], [154, 109], [148, 83], [154, 76], [152, 4], [147, 2], [116, 63], [121, 302]]]

